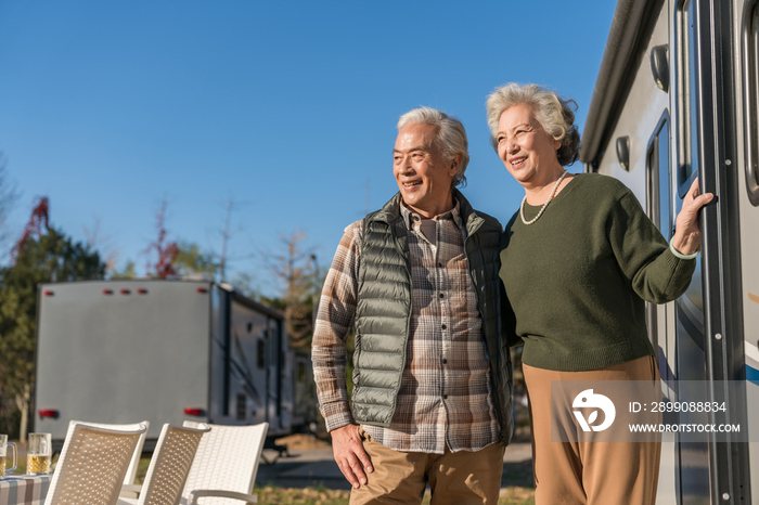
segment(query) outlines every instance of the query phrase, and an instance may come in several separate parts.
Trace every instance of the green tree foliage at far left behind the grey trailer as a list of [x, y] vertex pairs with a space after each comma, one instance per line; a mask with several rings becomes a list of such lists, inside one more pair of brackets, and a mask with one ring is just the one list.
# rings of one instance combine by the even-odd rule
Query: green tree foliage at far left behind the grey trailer
[[39, 284], [103, 279], [105, 268], [97, 251], [50, 228], [26, 241], [14, 266], [0, 269], [0, 388], [5, 399], [23, 405], [34, 389]]

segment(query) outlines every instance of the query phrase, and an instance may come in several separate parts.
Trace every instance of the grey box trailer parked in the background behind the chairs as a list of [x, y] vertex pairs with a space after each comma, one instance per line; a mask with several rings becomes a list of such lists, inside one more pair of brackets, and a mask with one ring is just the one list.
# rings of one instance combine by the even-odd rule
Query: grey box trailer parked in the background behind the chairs
[[230, 286], [89, 281], [38, 296], [34, 429], [54, 440], [72, 419], [146, 419], [149, 443], [188, 418], [267, 422], [270, 436], [316, 419], [310, 361], [290, 349], [283, 315]]

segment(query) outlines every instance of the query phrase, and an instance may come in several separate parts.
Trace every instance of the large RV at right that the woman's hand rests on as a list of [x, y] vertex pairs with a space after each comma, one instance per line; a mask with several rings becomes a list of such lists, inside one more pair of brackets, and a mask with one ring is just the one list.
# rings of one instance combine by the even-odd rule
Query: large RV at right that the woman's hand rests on
[[[648, 307], [662, 392], [699, 380], [759, 440], [759, 1], [619, 0], [582, 134], [669, 238], [694, 178], [717, 200], [680, 299]], [[733, 381], [741, 387], [726, 390]], [[725, 398], [726, 397], [726, 398]], [[682, 399], [681, 399], [682, 400]], [[759, 444], [665, 436], [659, 504], [759, 504]]]

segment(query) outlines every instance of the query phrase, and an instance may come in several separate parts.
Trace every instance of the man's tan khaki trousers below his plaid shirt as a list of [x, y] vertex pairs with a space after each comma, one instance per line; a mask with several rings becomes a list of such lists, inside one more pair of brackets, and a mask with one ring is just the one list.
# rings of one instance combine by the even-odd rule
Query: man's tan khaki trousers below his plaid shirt
[[350, 492], [350, 505], [422, 503], [427, 482], [430, 505], [498, 504], [503, 472], [501, 443], [477, 451], [445, 454], [399, 452], [361, 430], [363, 449], [374, 471], [368, 482]]

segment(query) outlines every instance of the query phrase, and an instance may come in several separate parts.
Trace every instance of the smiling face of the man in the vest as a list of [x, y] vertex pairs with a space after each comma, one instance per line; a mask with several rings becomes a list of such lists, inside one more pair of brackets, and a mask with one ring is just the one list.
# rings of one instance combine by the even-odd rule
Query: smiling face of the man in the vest
[[403, 203], [425, 218], [452, 208], [451, 184], [460, 160], [446, 161], [433, 144], [437, 128], [409, 125], [398, 132], [393, 173]]

